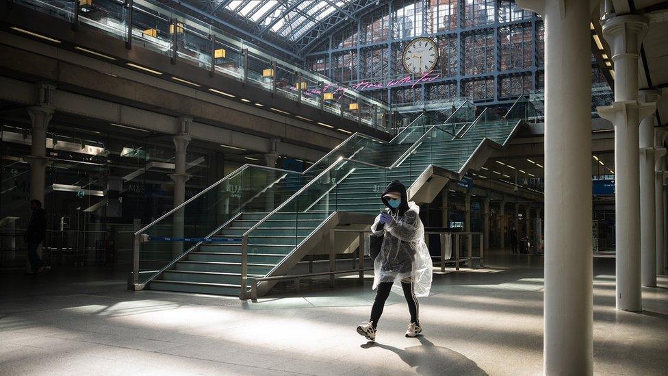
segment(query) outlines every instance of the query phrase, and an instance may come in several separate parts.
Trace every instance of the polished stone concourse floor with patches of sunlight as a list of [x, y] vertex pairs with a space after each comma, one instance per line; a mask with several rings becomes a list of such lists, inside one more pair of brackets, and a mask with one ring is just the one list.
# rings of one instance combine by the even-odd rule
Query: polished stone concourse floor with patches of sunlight
[[[393, 296], [375, 344], [371, 281], [316, 284], [258, 302], [129, 292], [114, 271], [0, 275], [0, 375], [539, 375], [542, 259], [491, 251], [484, 269], [437, 273], [420, 299], [420, 338], [404, 338]], [[594, 371], [666, 375], [668, 277], [644, 312], [615, 310], [614, 260], [595, 260]], [[320, 286], [320, 287], [318, 287]]]

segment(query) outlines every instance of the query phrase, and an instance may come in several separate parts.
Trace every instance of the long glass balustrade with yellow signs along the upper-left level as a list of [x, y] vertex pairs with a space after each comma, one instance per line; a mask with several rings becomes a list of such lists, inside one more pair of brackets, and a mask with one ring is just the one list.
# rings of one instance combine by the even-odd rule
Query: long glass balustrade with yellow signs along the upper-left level
[[127, 41], [131, 26], [133, 45], [168, 55], [175, 62], [247, 82], [349, 121], [392, 131], [391, 123], [383, 121], [391, 114], [387, 103], [269, 55], [245, 40], [159, 1], [134, 0], [131, 8], [118, 0], [17, 0], [16, 3], [68, 22], [74, 22], [78, 14], [79, 25], [120, 40]]

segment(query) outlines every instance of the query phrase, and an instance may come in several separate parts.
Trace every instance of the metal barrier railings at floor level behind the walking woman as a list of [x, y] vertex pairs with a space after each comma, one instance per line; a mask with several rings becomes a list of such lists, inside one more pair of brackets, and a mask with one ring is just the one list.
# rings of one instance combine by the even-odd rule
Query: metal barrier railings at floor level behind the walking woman
[[[356, 258], [355, 253], [352, 258], [352, 269], [346, 269], [343, 271], [336, 270], [336, 253], [334, 243], [336, 241], [335, 233], [337, 232], [354, 232], [358, 234], [359, 246], [357, 247], [357, 268], [355, 268]], [[277, 275], [272, 277], [255, 277], [251, 279], [251, 299], [257, 299], [257, 284], [262, 281], [281, 281], [281, 280], [294, 280], [294, 286], [296, 292], [299, 292], [299, 286], [301, 279], [311, 278], [311, 277], [323, 277], [329, 275], [329, 284], [331, 287], [335, 286], [335, 276], [338, 274], [346, 273], [359, 273], [359, 281], [364, 280], [364, 273], [368, 271], [373, 271], [374, 268], [365, 268], [365, 242], [366, 235], [370, 234], [371, 230], [357, 230], [357, 229], [332, 229], [329, 233], [330, 236], [330, 247], [329, 247], [329, 272], [319, 272], [319, 273], [306, 273], [306, 274], [294, 274], [294, 275]], [[425, 235], [439, 234], [441, 240], [441, 255], [439, 262], [435, 263], [441, 267], [441, 272], [445, 271], [446, 264], [454, 264], [455, 269], [459, 271], [459, 266], [462, 263], [467, 263], [471, 268], [473, 268], [473, 261], [478, 260], [478, 267], [483, 267], [483, 233], [482, 232], [450, 232], [441, 229], [431, 229], [430, 231], [424, 231]], [[473, 244], [472, 240], [474, 236], [480, 236], [480, 253], [478, 256], [474, 256], [473, 253]], [[461, 257], [461, 239], [466, 237], [467, 242], [467, 256]], [[427, 237], [428, 238], [428, 237]], [[454, 258], [452, 260], [446, 260], [446, 245], [452, 245], [452, 239], [454, 238]], [[370, 260], [373, 262], [373, 260]], [[312, 271], [312, 267], [309, 267], [309, 271]]]

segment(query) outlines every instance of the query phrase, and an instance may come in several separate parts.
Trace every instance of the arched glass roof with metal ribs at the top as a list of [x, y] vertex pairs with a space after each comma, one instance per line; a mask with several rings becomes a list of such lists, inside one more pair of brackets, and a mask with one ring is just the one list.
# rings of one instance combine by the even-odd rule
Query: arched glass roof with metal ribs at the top
[[381, 7], [379, 0], [162, 0], [300, 58], [339, 24]]

